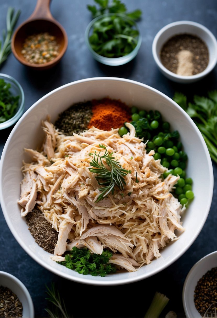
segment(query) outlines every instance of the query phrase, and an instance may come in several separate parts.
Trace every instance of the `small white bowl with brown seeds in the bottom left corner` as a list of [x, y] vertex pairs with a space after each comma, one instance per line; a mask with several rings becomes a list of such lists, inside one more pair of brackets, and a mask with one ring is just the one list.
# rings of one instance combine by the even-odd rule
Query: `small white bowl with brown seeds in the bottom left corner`
[[32, 298], [15, 276], [0, 271], [0, 317], [34, 318]]

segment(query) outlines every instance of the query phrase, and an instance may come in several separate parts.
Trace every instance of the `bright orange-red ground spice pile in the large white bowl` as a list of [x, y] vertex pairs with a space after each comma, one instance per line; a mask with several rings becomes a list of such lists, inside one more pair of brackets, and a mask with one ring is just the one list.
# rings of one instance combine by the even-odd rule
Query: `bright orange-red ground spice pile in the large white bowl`
[[102, 130], [111, 130], [111, 128], [119, 128], [126, 121], [131, 120], [129, 108], [120, 100], [103, 98], [102, 100], [93, 100], [92, 103], [93, 116], [88, 128], [94, 126]]

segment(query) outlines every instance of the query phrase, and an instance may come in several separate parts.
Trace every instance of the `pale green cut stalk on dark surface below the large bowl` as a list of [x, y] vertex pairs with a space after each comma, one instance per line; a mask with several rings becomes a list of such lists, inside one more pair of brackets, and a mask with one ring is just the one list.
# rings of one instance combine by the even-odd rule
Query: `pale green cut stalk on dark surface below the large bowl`
[[144, 318], [158, 318], [168, 301], [164, 294], [156, 292]]

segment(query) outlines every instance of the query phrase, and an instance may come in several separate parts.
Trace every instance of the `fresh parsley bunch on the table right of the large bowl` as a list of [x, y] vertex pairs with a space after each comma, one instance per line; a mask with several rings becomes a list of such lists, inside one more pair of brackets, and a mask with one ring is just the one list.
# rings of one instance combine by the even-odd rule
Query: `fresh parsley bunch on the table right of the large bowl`
[[175, 93], [173, 100], [181, 106], [199, 128], [211, 158], [217, 163], [217, 91], [208, 92], [208, 97], [195, 95], [193, 103], [187, 102], [182, 93]]

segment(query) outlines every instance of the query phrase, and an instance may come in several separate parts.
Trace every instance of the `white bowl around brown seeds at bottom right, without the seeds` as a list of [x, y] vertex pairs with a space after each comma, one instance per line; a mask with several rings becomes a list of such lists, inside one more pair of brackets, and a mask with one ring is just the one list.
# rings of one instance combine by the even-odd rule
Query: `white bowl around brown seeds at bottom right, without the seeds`
[[212, 252], [200, 259], [188, 273], [182, 293], [183, 307], [186, 318], [199, 318], [200, 314], [194, 305], [194, 290], [199, 279], [213, 267], [217, 267], [217, 251]]

